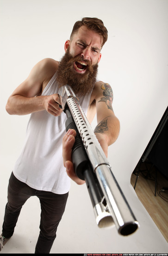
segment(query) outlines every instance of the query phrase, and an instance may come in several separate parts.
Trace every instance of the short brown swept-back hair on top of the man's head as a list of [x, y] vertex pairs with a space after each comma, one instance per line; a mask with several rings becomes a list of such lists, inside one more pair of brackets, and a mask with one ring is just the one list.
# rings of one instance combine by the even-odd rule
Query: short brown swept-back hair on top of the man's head
[[94, 32], [100, 34], [103, 38], [103, 42], [101, 47], [106, 43], [107, 37], [108, 37], [108, 31], [106, 27], [104, 26], [104, 23], [102, 20], [98, 18], [83, 18], [82, 20], [76, 21], [72, 30], [72, 33], [70, 35], [70, 39], [72, 39], [73, 35], [78, 31], [78, 29], [81, 26], [87, 27], [89, 30], [93, 30]]

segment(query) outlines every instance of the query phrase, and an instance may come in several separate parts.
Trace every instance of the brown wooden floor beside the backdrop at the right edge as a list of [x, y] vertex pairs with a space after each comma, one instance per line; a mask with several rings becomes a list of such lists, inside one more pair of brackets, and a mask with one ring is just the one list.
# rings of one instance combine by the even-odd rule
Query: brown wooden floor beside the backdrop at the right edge
[[[135, 191], [139, 200], [148, 211], [149, 215], [160, 229], [162, 235], [168, 242], [168, 190], [162, 191], [162, 187], [168, 187], [168, 180], [157, 171], [157, 186], [155, 196], [155, 175], [153, 168], [150, 177], [144, 178], [145, 172], [140, 172]], [[131, 184], [134, 187], [136, 175], [131, 175]]]

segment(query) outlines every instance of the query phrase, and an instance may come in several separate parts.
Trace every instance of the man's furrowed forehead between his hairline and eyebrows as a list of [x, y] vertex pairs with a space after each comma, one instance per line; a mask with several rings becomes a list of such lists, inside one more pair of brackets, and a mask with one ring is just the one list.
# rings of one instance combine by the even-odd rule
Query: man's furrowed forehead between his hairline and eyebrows
[[92, 43], [92, 45], [98, 46], [100, 48], [103, 41], [100, 34], [94, 32], [93, 30], [87, 29], [85, 26], [82, 26], [78, 29], [78, 31], [73, 35], [72, 40], [83, 40], [87, 43], [87, 45]]

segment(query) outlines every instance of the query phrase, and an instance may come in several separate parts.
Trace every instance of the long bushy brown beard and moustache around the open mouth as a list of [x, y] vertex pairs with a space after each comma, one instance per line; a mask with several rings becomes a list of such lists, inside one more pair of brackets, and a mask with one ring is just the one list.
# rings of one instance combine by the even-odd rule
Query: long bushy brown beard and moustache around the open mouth
[[[84, 74], [78, 74], [74, 69], [75, 61], [85, 61], [87, 70]], [[91, 65], [90, 61], [84, 60], [81, 56], [73, 57], [67, 49], [62, 57], [56, 75], [56, 81], [59, 88], [62, 85], [69, 85], [78, 96], [84, 96], [89, 93], [96, 82], [98, 64]]]

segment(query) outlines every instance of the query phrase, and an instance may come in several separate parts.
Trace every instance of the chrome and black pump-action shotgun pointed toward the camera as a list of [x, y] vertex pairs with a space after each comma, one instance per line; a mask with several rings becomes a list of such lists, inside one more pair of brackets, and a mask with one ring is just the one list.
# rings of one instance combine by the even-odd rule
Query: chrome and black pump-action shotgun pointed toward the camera
[[76, 130], [72, 150], [75, 173], [87, 184], [98, 226], [104, 228], [115, 224], [120, 235], [134, 233], [139, 223], [112, 173], [79, 99], [68, 85], [59, 89], [59, 95], [67, 115], [66, 130]]

